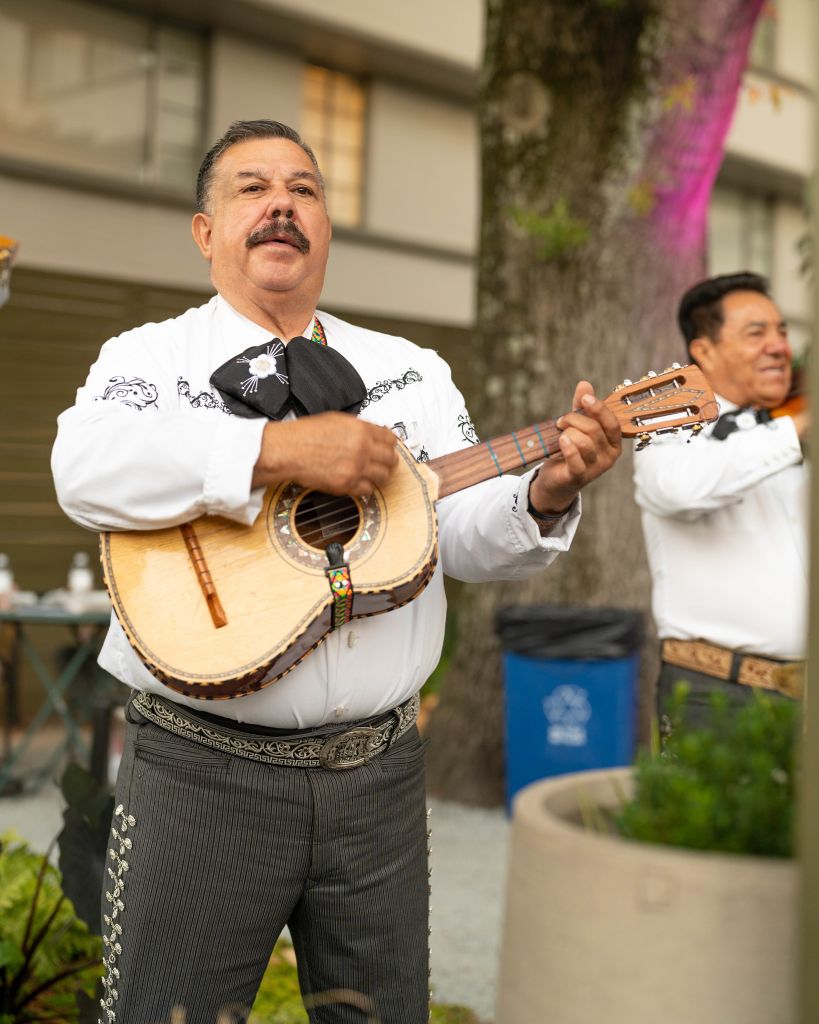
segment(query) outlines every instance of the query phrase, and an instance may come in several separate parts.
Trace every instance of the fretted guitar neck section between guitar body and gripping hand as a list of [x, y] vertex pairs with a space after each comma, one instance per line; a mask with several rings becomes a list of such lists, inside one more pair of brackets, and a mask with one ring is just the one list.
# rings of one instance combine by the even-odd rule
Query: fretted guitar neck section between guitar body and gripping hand
[[555, 421], [547, 420], [482, 444], [431, 459], [426, 465], [440, 479], [438, 498], [441, 499], [481, 480], [549, 459], [560, 451], [559, 436]]

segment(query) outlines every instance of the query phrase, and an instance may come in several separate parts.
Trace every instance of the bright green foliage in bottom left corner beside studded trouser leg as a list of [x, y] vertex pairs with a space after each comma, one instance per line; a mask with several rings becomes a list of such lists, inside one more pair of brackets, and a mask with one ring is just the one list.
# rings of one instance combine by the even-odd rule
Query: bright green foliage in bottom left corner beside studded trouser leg
[[79, 1021], [79, 1004], [94, 995], [101, 958], [101, 942], [78, 919], [48, 854], [3, 836], [0, 1024]]

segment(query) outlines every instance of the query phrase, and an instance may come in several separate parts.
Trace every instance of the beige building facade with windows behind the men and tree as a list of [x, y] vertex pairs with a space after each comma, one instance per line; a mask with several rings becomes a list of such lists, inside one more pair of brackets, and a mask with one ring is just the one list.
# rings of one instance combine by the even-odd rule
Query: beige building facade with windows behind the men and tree
[[[162, 14], [157, 11], [161, 7]], [[434, 345], [474, 315], [482, 0], [0, 0], [0, 551], [58, 587], [95, 539], [60, 513], [48, 454], [107, 337], [211, 293], [190, 241], [202, 154], [230, 121], [303, 131], [329, 179], [322, 304]], [[813, 161], [812, 0], [761, 26], [712, 217], [716, 270], [769, 274], [800, 343]]]

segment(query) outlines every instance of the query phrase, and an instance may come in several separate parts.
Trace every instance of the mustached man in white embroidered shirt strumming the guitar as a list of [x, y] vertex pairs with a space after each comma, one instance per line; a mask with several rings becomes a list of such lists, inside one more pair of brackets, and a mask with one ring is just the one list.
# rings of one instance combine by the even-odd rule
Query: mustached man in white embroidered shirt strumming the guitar
[[[397, 437], [420, 461], [476, 441], [435, 352], [316, 309], [332, 230], [315, 157], [292, 128], [232, 125], [203, 161], [198, 200], [193, 238], [217, 294], [103, 346], [54, 446], [72, 518], [96, 530], [250, 524], [279, 482], [372, 494]], [[590, 384], [571, 408], [562, 458], [439, 503], [440, 562], [422, 594], [340, 625], [274, 685], [180, 695], [113, 621], [100, 664], [134, 692], [104, 887], [103, 1022], [157, 1024], [174, 1008], [188, 1024], [244, 1021], [288, 926], [311, 1021], [425, 1024], [415, 717], [440, 654], [442, 572], [520, 579], [568, 547], [580, 488], [620, 450]], [[162, 614], [162, 593], [156, 603]]]

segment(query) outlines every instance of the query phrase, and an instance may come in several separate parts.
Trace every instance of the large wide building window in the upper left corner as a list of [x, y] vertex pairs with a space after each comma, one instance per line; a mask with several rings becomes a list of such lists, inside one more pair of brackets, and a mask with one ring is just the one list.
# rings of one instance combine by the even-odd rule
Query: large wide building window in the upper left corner
[[75, 0], [0, 7], [0, 155], [189, 191], [202, 37]]

